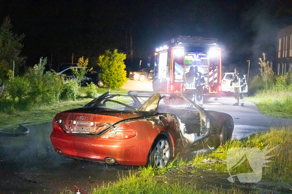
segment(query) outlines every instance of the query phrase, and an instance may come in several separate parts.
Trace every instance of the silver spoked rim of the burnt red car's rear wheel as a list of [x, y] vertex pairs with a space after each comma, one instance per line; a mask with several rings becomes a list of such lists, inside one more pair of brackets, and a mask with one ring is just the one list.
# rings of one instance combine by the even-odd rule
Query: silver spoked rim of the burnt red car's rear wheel
[[167, 164], [170, 155], [170, 148], [166, 140], [160, 140], [154, 149], [155, 166], [163, 167]]

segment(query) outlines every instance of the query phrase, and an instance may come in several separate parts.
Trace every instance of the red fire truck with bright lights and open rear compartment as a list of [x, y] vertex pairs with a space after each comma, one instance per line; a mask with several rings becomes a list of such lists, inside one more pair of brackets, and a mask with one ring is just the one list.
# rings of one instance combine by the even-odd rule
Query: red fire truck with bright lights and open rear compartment
[[155, 52], [153, 90], [185, 94], [185, 74], [197, 65], [204, 75], [204, 99], [220, 97], [221, 49], [214, 38], [178, 36]]

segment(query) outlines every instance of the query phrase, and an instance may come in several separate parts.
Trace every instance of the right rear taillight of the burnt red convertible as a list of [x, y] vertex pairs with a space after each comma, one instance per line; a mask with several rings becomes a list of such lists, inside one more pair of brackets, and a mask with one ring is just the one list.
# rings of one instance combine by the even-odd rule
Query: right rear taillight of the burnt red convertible
[[121, 124], [119, 127], [110, 130], [107, 134], [101, 136], [103, 139], [128, 139], [136, 136], [136, 132], [132, 127], [126, 123]]

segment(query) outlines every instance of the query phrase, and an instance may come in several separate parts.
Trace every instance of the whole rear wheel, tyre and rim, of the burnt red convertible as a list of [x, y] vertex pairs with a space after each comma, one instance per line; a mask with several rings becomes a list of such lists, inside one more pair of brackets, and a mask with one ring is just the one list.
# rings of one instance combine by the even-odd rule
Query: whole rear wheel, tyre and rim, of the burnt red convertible
[[154, 140], [148, 161], [152, 167], [164, 167], [171, 158], [171, 147], [166, 136], [161, 135]]

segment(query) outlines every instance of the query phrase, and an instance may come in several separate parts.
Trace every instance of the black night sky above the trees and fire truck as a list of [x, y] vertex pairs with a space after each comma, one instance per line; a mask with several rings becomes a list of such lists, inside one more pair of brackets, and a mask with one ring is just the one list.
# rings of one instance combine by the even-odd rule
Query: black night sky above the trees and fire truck
[[[81, 56], [89, 65], [106, 49], [130, 52], [134, 64], [178, 35], [218, 38], [225, 66], [247, 62], [256, 73], [258, 58], [275, 62], [277, 31], [292, 25], [292, 1], [1, 1], [0, 22], [9, 16], [13, 31], [25, 34], [26, 65], [48, 57], [56, 68]], [[127, 63], [126, 65], [129, 65]]]

